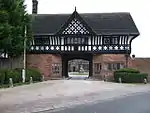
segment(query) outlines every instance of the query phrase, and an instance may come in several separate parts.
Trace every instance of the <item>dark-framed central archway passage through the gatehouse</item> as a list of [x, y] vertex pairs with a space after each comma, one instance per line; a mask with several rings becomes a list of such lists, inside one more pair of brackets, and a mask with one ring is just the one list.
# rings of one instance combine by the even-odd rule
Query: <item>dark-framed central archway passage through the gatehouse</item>
[[[73, 71], [75, 71], [74, 74], [79, 74], [79, 75], [86, 74], [87, 77], [91, 77], [93, 75], [92, 59], [93, 59], [92, 54], [85, 54], [85, 53], [62, 54], [62, 76], [69, 77], [69, 75], [73, 73]], [[79, 61], [80, 63], [82, 63], [82, 65], [79, 64], [79, 62], [77, 63], [76, 61]], [[71, 66], [71, 63], [76, 63], [76, 64]], [[83, 64], [84, 64], [84, 68], [83, 68]]]

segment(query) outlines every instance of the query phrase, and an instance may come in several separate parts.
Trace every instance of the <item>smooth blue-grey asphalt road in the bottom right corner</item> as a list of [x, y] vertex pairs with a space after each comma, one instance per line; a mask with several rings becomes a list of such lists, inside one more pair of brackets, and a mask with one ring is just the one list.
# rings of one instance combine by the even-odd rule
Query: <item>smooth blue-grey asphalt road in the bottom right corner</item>
[[150, 92], [42, 113], [150, 113]]

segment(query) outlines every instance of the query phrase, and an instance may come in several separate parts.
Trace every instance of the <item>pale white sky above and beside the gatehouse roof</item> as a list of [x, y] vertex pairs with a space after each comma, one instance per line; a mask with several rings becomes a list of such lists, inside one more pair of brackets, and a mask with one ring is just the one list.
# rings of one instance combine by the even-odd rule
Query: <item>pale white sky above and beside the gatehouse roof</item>
[[[38, 14], [130, 12], [140, 32], [132, 41], [132, 54], [150, 57], [150, 0], [38, 0]], [[25, 0], [32, 12], [32, 0]]]

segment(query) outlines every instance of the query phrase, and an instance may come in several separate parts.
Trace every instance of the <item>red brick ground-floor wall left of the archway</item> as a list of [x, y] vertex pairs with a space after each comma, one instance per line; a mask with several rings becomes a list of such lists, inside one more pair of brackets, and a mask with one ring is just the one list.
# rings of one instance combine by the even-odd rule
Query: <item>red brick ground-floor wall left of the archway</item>
[[61, 56], [57, 54], [28, 54], [27, 55], [27, 67], [37, 68], [45, 79], [52, 77], [61, 77], [61, 69], [59, 74], [53, 74], [52, 64], [60, 63]]

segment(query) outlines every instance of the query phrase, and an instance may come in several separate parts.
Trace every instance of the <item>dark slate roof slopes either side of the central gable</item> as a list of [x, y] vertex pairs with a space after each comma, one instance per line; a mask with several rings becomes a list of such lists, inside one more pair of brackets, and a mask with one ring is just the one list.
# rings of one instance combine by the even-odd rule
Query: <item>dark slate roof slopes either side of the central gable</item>
[[[139, 31], [130, 13], [84, 13], [79, 14], [96, 34], [132, 34]], [[55, 34], [71, 14], [37, 14], [32, 16], [34, 34]]]

